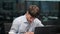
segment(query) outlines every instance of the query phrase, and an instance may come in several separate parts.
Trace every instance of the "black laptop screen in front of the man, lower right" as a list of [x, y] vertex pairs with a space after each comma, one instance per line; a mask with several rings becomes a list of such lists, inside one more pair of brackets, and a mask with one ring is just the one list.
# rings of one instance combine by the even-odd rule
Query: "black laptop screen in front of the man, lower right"
[[55, 26], [46, 26], [46, 27], [36, 27], [34, 34], [56, 34]]

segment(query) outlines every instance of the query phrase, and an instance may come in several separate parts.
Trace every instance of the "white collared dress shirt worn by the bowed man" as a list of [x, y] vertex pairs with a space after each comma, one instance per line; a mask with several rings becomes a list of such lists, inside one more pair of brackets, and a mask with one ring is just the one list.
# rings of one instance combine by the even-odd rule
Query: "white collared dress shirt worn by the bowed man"
[[26, 15], [20, 16], [13, 21], [9, 34], [23, 34], [24, 32], [34, 32], [35, 27], [44, 26], [38, 18], [29, 24]]

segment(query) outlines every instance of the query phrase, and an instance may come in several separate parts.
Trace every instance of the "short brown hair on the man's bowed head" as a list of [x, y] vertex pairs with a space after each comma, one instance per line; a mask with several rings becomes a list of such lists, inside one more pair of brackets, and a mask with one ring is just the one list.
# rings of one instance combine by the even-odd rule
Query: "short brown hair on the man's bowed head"
[[39, 15], [39, 7], [36, 5], [30, 5], [28, 8], [28, 13], [32, 16], [32, 17], [37, 17]]

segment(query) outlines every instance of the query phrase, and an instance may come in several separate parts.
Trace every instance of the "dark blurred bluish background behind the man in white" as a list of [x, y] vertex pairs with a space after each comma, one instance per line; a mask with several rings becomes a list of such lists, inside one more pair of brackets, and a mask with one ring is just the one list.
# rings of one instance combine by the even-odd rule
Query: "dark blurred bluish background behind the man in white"
[[38, 5], [38, 18], [46, 25], [60, 25], [59, 1], [0, 0], [0, 34], [8, 34], [12, 21], [26, 13], [29, 5]]

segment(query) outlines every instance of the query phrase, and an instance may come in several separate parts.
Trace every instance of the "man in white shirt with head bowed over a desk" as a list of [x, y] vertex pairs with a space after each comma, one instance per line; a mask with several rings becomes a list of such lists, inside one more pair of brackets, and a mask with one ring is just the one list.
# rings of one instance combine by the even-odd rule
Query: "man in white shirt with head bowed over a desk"
[[16, 18], [13, 21], [9, 34], [34, 34], [35, 27], [44, 26], [36, 18], [39, 14], [39, 8], [36, 5], [30, 5], [26, 14]]

